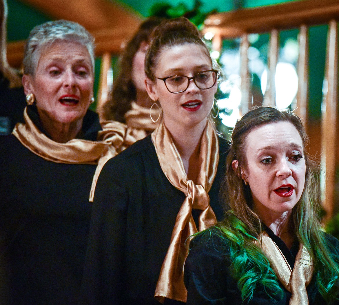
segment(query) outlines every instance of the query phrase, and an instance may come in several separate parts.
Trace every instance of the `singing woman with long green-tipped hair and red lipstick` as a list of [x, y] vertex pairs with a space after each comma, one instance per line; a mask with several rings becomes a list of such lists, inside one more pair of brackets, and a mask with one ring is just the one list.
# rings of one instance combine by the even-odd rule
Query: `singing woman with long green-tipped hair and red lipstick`
[[302, 121], [260, 107], [236, 124], [226, 218], [193, 238], [187, 304], [339, 304], [339, 241], [319, 221], [319, 183]]

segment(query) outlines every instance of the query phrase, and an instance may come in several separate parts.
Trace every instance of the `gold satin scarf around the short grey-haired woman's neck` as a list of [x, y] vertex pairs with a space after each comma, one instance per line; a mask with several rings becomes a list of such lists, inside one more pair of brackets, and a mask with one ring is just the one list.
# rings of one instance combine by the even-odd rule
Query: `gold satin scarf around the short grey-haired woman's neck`
[[116, 121], [101, 122], [102, 130], [98, 133], [98, 141], [73, 139], [66, 143], [58, 143], [48, 138], [35, 126], [27, 115], [26, 108], [24, 119], [25, 124], [17, 123], [12, 134], [34, 154], [56, 163], [97, 164], [89, 194], [91, 202], [104, 164], [135, 142], [135, 139], [128, 134], [127, 126]]

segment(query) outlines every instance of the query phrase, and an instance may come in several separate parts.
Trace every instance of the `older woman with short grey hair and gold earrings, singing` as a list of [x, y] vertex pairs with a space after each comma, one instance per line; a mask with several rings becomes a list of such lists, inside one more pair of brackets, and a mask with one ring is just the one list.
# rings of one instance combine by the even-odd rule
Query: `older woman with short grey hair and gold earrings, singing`
[[[24, 53], [25, 123], [0, 137], [1, 304], [76, 304], [94, 186], [105, 161], [133, 139], [100, 126], [94, 39], [75, 22], [36, 26]], [[128, 141], [131, 140], [131, 141]]]

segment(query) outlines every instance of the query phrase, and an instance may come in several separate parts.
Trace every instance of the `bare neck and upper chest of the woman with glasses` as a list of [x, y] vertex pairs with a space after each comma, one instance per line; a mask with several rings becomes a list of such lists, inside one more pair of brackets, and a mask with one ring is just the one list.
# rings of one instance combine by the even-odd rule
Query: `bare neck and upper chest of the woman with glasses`
[[179, 126], [179, 124], [168, 124], [167, 126], [166, 121], [164, 121], [180, 154], [187, 179], [194, 182], [200, 171], [197, 164], [199, 164], [201, 136], [206, 123], [207, 119], [194, 126]]

